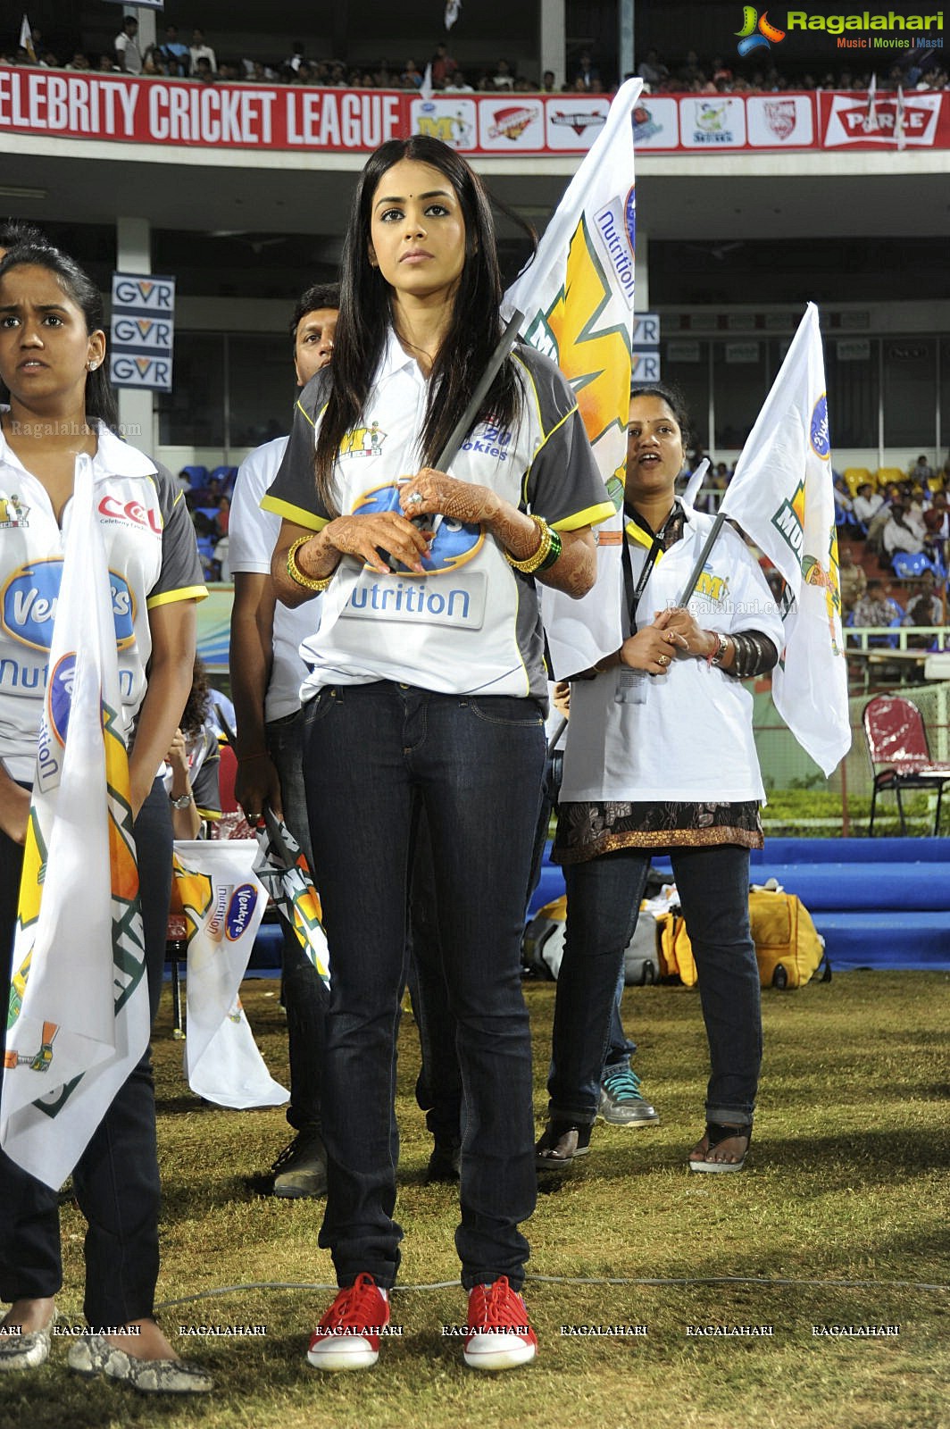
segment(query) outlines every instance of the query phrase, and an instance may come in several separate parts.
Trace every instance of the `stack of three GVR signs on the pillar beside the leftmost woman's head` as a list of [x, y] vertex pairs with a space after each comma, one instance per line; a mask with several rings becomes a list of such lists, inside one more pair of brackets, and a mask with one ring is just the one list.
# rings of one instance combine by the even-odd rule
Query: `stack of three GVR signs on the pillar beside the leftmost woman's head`
[[173, 343], [174, 279], [113, 273], [113, 386], [171, 392]]

